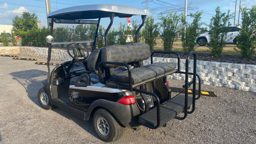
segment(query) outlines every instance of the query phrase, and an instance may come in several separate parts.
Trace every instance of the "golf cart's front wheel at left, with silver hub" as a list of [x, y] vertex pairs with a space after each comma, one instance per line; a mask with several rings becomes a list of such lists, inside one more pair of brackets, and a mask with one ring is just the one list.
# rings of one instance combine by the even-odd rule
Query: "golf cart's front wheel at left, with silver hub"
[[45, 110], [51, 110], [52, 104], [50, 103], [50, 97], [46, 90], [43, 88], [38, 91], [38, 102]]

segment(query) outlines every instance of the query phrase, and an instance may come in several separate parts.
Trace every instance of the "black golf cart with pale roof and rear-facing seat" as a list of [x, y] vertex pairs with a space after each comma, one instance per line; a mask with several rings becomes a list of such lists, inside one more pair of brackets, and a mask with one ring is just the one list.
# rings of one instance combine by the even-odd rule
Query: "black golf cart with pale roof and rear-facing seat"
[[[142, 17], [135, 39], [126, 45], [108, 46], [108, 31], [115, 17]], [[170, 119], [185, 119], [195, 109], [196, 54], [190, 52], [186, 58], [186, 71], [180, 71], [180, 57], [175, 52], [153, 52], [148, 44], [138, 42], [137, 34], [142, 28], [149, 10], [134, 7], [97, 4], [60, 9], [48, 15], [50, 35], [47, 56], [48, 76], [39, 90], [38, 100], [42, 108], [54, 106], [81, 117], [92, 119], [95, 132], [105, 142], [121, 137], [124, 127], [136, 129], [140, 126], [156, 129], [166, 126]], [[110, 18], [106, 28], [104, 47], [96, 47], [101, 18]], [[54, 23], [96, 25], [94, 41], [54, 42]], [[88, 42], [92, 47], [87, 48]], [[73, 60], [61, 63], [50, 73], [50, 58], [54, 44], [69, 44], [67, 52]], [[86, 45], [83, 45], [86, 43]], [[162, 53], [175, 55], [177, 63], [153, 62], [153, 56]], [[190, 55], [193, 57], [193, 73], [188, 71]], [[150, 65], [143, 60], [151, 57]], [[185, 75], [185, 94], [172, 97], [167, 76], [173, 73]], [[192, 75], [193, 80], [188, 81]], [[193, 96], [188, 87], [193, 84]], [[180, 114], [183, 113], [183, 114]], [[180, 115], [178, 115], [180, 114]]]

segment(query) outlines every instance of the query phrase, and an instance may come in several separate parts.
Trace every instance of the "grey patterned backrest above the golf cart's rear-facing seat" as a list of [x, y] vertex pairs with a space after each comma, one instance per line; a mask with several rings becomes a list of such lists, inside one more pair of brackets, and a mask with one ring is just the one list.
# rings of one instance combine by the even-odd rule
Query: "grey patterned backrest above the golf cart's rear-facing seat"
[[[148, 44], [136, 42], [126, 45], [112, 45], [101, 50], [101, 62], [140, 62], [150, 57], [150, 47]], [[117, 67], [116, 65], [106, 65], [107, 68]]]

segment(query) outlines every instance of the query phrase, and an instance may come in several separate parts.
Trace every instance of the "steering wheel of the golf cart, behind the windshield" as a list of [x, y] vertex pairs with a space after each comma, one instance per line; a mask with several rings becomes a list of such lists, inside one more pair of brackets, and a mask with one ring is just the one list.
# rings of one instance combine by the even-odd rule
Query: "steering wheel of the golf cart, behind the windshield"
[[68, 54], [75, 60], [86, 60], [89, 56], [89, 50], [82, 44], [73, 43], [68, 46]]

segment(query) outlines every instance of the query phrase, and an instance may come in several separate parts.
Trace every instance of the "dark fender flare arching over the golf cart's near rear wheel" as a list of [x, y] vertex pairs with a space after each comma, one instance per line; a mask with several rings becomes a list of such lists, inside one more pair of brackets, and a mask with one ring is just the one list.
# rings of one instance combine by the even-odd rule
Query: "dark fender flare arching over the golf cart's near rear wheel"
[[112, 102], [110, 100], [99, 99], [95, 100], [89, 110], [84, 114], [84, 120], [88, 121], [94, 112], [98, 108], [105, 108], [114, 115], [114, 117], [125, 127], [138, 127], [138, 116], [140, 116], [140, 110], [136, 104], [133, 105], [123, 105], [118, 102]]

